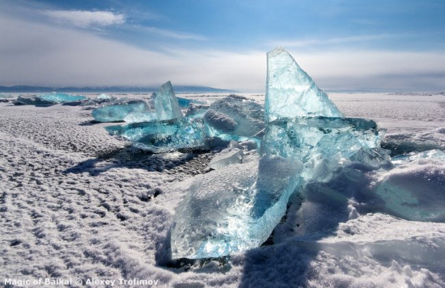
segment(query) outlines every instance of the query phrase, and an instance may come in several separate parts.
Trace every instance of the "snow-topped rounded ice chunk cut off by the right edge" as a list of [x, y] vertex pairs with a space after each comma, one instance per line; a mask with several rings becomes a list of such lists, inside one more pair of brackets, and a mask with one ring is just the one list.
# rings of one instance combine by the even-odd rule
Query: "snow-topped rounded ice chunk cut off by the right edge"
[[392, 163], [394, 169], [373, 189], [385, 202], [385, 212], [414, 221], [445, 222], [445, 153], [411, 153]]

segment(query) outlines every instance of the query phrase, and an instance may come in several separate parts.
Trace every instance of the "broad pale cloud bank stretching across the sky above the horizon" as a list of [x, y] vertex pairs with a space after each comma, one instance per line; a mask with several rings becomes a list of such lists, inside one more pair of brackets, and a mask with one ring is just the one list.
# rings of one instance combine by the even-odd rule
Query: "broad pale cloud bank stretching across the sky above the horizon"
[[[0, 85], [147, 86], [171, 80], [247, 92], [266, 86], [266, 51], [150, 51], [6, 16], [0, 17], [0, 38]], [[445, 91], [445, 52], [289, 51], [321, 88]]]

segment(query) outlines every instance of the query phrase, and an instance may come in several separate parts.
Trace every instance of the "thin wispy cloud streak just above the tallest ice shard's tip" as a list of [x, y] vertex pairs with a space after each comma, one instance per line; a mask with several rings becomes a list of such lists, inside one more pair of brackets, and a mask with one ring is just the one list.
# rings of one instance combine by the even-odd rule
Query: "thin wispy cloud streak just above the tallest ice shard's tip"
[[374, 35], [357, 35], [335, 38], [323, 38], [323, 39], [303, 39], [303, 40], [273, 40], [270, 42], [272, 45], [281, 45], [283, 47], [295, 47], [304, 48], [316, 45], [335, 45], [345, 43], [360, 43], [374, 40], [383, 40], [391, 38], [400, 38], [407, 36], [406, 34], [374, 34]]

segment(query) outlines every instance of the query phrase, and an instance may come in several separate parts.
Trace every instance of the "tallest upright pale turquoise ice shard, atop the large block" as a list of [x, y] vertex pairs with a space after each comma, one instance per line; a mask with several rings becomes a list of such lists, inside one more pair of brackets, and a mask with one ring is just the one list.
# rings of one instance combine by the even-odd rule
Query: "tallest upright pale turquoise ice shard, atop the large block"
[[267, 53], [264, 109], [266, 122], [283, 117], [343, 116], [283, 47]]

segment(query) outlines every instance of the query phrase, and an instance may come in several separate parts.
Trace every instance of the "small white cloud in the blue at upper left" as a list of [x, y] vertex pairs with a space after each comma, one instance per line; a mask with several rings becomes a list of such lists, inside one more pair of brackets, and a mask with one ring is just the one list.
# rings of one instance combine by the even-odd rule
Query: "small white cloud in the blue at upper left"
[[105, 27], [125, 23], [123, 14], [114, 14], [110, 11], [85, 10], [45, 10], [42, 14], [54, 21], [77, 27]]

